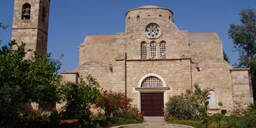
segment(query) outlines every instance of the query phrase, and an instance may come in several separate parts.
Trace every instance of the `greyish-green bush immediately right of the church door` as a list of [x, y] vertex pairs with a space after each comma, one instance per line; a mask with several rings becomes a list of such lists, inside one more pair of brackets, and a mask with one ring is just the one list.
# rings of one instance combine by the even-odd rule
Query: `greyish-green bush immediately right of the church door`
[[195, 85], [195, 90], [188, 90], [180, 96], [171, 97], [166, 103], [165, 118], [178, 119], [200, 119], [204, 127], [208, 125], [208, 105], [209, 91], [201, 90], [199, 85]]

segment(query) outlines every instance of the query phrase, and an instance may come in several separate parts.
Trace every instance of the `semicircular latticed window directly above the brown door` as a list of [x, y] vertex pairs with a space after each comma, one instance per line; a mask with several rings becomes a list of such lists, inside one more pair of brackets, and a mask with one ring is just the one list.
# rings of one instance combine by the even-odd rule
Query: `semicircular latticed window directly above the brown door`
[[156, 76], [148, 76], [142, 81], [142, 88], [157, 88], [163, 87], [163, 82]]

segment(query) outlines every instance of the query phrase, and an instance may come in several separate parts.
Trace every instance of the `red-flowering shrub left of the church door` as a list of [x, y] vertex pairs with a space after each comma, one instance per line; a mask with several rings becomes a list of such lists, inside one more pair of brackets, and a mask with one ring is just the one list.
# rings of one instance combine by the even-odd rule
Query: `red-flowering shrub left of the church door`
[[130, 109], [131, 98], [127, 98], [124, 93], [121, 92], [108, 92], [101, 88], [100, 95], [97, 98], [96, 107], [100, 107], [105, 111], [105, 116], [110, 119], [110, 115], [117, 113], [118, 110]]

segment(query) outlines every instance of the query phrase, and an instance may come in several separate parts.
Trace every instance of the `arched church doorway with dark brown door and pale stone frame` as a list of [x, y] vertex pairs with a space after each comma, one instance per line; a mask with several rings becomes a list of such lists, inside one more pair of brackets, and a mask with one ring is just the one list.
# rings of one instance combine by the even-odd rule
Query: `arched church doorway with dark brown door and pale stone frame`
[[145, 116], [163, 116], [164, 103], [167, 102], [166, 82], [156, 73], [148, 73], [138, 82], [138, 109]]

